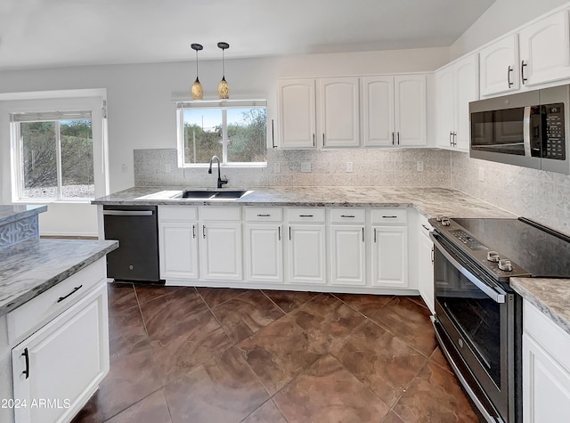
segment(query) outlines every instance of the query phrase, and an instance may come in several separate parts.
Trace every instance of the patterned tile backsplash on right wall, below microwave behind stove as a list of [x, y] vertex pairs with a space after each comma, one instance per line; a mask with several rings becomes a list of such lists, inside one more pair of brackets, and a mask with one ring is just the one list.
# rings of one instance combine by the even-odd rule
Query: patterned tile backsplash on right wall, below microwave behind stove
[[570, 234], [570, 175], [469, 159], [468, 153], [453, 151], [451, 186]]

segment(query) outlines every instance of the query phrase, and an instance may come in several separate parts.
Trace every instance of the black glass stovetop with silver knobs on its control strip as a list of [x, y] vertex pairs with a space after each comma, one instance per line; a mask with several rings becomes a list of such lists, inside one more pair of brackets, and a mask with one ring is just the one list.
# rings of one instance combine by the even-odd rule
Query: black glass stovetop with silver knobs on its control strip
[[[449, 225], [430, 219], [429, 223], [498, 281], [513, 276], [570, 278], [570, 237], [523, 217], [452, 218]], [[489, 261], [488, 253], [493, 251], [499, 259], [509, 260], [512, 269], [501, 270]]]

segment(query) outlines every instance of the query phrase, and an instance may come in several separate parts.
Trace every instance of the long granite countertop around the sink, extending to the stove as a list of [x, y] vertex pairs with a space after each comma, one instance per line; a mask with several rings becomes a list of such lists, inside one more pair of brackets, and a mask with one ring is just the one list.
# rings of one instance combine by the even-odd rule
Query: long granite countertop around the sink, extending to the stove
[[[481, 199], [452, 190], [431, 187], [253, 187], [250, 194], [232, 201], [176, 198], [188, 187], [134, 187], [95, 199], [108, 205], [209, 205], [282, 207], [415, 207], [428, 217], [515, 217]], [[192, 187], [194, 188], [194, 187]], [[209, 188], [208, 188], [209, 189]], [[236, 190], [239, 188], [228, 188]]]

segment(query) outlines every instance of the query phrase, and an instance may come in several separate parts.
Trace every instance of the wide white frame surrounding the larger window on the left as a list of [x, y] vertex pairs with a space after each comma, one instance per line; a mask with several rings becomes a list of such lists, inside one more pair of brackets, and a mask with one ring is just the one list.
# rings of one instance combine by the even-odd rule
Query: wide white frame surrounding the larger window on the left
[[[101, 91], [101, 90], [98, 90]], [[6, 140], [9, 145], [10, 166], [8, 175], [3, 183], [4, 187], [9, 187], [9, 192], [3, 194], [4, 201], [14, 204], [45, 204], [45, 203], [87, 203], [93, 199], [108, 195], [110, 192], [109, 183], [109, 160], [107, 141], [107, 116], [106, 99], [103, 95], [82, 96], [73, 95], [65, 97], [65, 92], [57, 97], [44, 96], [37, 93], [38, 97], [33, 98], [33, 94], [28, 94], [25, 98], [2, 99], [0, 101], [0, 126], [6, 128], [4, 134], [9, 136]], [[21, 187], [23, 186], [23, 170], [21, 166], [20, 139], [17, 137], [19, 129], [16, 128], [18, 122], [11, 122], [10, 116], [17, 113], [56, 113], [56, 112], [77, 112], [85, 110], [91, 112], [92, 138], [93, 138], [93, 159], [94, 159], [94, 198], [87, 197], [45, 197], [45, 198], [23, 198]], [[63, 119], [65, 120], [65, 119]], [[3, 160], [3, 164], [6, 163]], [[3, 175], [3, 176], [4, 176]], [[59, 183], [59, 182], [58, 182]], [[60, 192], [61, 195], [61, 192]]]

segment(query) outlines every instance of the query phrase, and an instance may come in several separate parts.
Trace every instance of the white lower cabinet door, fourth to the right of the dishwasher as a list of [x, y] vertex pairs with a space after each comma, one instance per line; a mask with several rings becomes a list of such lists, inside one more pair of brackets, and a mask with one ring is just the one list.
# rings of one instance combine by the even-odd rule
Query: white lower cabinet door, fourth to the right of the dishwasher
[[327, 283], [324, 224], [289, 225], [289, 281]]

